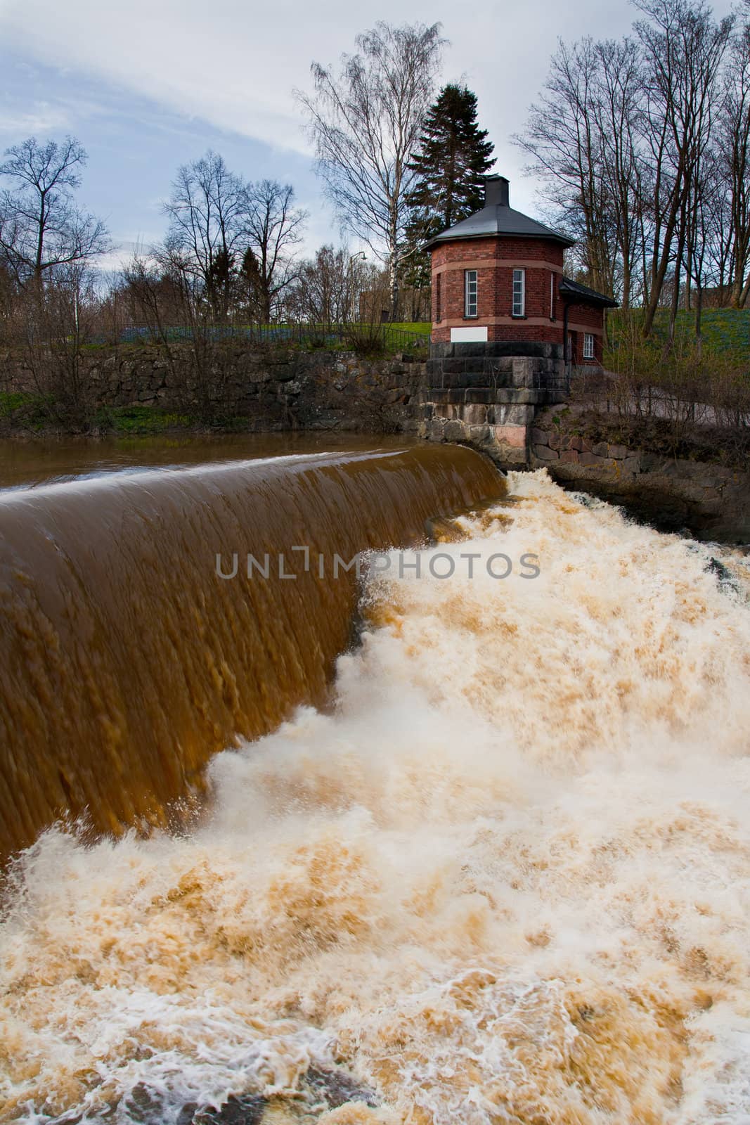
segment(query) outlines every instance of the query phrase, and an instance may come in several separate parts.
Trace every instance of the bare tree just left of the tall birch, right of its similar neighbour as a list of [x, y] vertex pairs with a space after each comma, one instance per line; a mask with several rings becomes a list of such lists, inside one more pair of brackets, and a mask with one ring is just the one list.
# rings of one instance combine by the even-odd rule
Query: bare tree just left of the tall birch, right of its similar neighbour
[[263, 324], [297, 278], [295, 248], [307, 212], [295, 207], [291, 184], [278, 180], [251, 183], [243, 194], [242, 233], [246, 241], [242, 274]]

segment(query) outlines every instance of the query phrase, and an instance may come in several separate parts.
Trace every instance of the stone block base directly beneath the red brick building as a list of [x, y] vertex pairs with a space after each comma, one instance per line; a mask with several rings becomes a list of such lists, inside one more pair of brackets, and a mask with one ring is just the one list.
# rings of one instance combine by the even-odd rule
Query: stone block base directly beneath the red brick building
[[537, 411], [568, 390], [560, 344], [432, 343], [419, 434], [467, 442], [503, 467], [528, 464]]

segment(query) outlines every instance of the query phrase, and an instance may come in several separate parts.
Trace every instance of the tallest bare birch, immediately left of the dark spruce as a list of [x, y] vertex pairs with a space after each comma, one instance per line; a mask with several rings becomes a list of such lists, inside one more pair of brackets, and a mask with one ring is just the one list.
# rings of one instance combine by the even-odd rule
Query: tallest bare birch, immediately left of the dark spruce
[[297, 92], [342, 230], [388, 263], [394, 317], [406, 197], [416, 177], [408, 163], [432, 101], [443, 43], [440, 24], [380, 21], [356, 37], [358, 53], [342, 55], [338, 72], [313, 63], [315, 92]]

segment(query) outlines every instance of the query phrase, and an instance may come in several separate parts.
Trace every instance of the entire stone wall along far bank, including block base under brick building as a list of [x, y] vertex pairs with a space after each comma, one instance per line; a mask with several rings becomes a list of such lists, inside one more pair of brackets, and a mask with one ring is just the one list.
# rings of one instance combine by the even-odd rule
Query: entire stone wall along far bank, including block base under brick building
[[[561, 395], [550, 386], [559, 356], [543, 344], [515, 344], [532, 354], [464, 354], [471, 345], [433, 345], [427, 363], [363, 360], [351, 352], [234, 346], [196, 362], [190, 348], [92, 352], [76, 377], [92, 414], [106, 406], [159, 407], [251, 431], [331, 430], [413, 433], [488, 453], [501, 468], [545, 467], [566, 487], [622, 504], [667, 530], [750, 542], [750, 472], [676, 460], [622, 444], [593, 443], [552, 418]], [[542, 349], [540, 352], [539, 349]], [[478, 363], [478, 360], [480, 362]], [[0, 356], [0, 390], [55, 395], [64, 370]], [[46, 380], [46, 385], [45, 385]], [[546, 382], [546, 386], [544, 385]], [[213, 412], [213, 415], [211, 415]]]

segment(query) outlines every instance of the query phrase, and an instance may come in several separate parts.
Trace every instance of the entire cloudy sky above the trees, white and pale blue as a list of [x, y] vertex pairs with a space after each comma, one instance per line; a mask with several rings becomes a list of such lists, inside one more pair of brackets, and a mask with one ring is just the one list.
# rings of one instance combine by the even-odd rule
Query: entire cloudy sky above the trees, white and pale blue
[[633, 16], [626, 0], [0, 0], [0, 151], [31, 134], [76, 136], [89, 153], [81, 201], [128, 251], [162, 236], [175, 169], [213, 147], [250, 179], [291, 182], [316, 246], [337, 240], [337, 225], [292, 89], [309, 88], [310, 62], [351, 52], [376, 19], [441, 21], [443, 80], [476, 91], [496, 171], [513, 181], [512, 204], [533, 213], [534, 183], [509, 137], [557, 38], [618, 36]]

